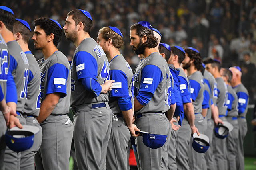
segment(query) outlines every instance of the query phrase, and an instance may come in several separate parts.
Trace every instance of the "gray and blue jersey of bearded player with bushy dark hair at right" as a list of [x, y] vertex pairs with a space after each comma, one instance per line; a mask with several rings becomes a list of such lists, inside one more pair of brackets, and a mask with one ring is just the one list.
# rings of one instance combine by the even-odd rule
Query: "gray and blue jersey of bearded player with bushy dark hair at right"
[[202, 113], [202, 103], [204, 100], [204, 80], [201, 72], [196, 71], [188, 77], [190, 81], [190, 93], [193, 100], [194, 112]]

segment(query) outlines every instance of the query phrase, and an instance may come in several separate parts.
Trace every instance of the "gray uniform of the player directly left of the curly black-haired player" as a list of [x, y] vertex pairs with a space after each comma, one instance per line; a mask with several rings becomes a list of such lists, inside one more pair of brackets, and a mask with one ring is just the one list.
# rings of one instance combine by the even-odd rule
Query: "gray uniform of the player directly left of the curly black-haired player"
[[25, 106], [23, 108], [23, 116], [26, 119], [26, 125], [38, 127], [40, 131], [34, 137], [33, 146], [30, 149], [21, 152], [20, 169], [35, 169], [35, 154], [39, 150], [42, 143], [42, 127], [35, 117], [38, 117], [40, 110], [40, 68], [31, 51], [25, 52], [29, 63], [28, 93]]

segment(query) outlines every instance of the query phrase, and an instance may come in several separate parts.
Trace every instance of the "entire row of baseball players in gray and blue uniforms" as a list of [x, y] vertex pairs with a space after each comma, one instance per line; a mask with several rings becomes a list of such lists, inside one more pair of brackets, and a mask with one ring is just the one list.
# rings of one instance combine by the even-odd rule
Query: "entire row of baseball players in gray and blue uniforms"
[[[6, 123], [41, 128], [29, 150], [16, 153], [7, 148], [4, 153], [1, 145], [0, 167], [34, 169], [35, 162], [37, 169], [68, 169], [74, 131], [79, 169], [129, 169], [131, 135], [136, 137], [139, 169], [206, 169], [214, 160], [213, 166], [226, 169], [226, 141], [215, 139], [212, 133], [214, 123], [229, 117], [240, 127], [237, 158], [243, 156], [248, 92], [239, 82], [242, 73], [238, 68], [232, 67], [231, 71], [236, 78], [233, 83], [239, 117], [232, 105], [237, 97], [228, 98], [230, 86], [220, 76], [220, 63], [205, 61], [206, 70], [213, 77], [204, 71], [196, 49], [184, 50], [163, 43], [158, 49], [160, 33], [146, 21], [130, 28], [130, 45], [142, 58], [133, 74], [119, 52], [123, 45], [121, 31], [103, 27], [97, 44], [90, 38], [92, 17], [85, 10], [70, 11], [63, 27], [66, 39], [77, 47], [71, 64], [57, 49], [62, 35], [58, 21], [45, 17], [34, 21], [34, 47], [44, 54], [36, 62], [27, 45], [31, 31], [28, 23], [15, 20], [12, 10], [5, 6], [0, 7], [0, 14], [4, 46], [4, 100], [0, 109], [11, 114], [10, 123], [4, 119], [6, 114], [1, 114], [5, 127], [1, 135], [7, 129]], [[188, 77], [180, 68], [181, 63]], [[230, 72], [224, 72], [227, 78]], [[74, 127], [66, 115], [70, 105]], [[231, 110], [235, 113], [229, 115]], [[140, 130], [167, 135], [167, 142], [161, 148], [150, 149], [135, 132]], [[209, 148], [205, 155], [194, 152], [190, 142], [193, 133], [207, 134], [210, 143], [213, 141], [212, 150]], [[241, 161], [238, 167], [243, 166], [243, 157]]]

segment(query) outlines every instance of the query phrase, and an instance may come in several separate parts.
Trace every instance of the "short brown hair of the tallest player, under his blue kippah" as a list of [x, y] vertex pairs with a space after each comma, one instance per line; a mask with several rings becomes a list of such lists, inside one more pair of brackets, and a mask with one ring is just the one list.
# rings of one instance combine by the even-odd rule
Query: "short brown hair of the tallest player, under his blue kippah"
[[78, 9], [72, 10], [68, 12], [68, 16], [72, 16], [76, 25], [79, 22], [82, 22], [84, 24], [84, 32], [87, 32], [88, 34], [90, 34], [90, 31], [92, 30], [92, 20], [88, 18], [86, 15], [84, 15], [82, 11]]

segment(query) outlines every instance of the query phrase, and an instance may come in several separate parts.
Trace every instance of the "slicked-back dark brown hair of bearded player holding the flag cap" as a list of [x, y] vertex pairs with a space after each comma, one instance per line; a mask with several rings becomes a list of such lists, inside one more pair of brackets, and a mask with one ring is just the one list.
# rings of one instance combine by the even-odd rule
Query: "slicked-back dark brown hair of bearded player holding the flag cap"
[[130, 30], [136, 29], [136, 35], [139, 37], [143, 37], [146, 35], [148, 37], [146, 43], [144, 43], [145, 47], [155, 48], [157, 46], [158, 39], [154, 36], [154, 33], [151, 29], [143, 27], [142, 25], [136, 23], [130, 27]]

